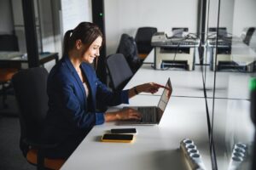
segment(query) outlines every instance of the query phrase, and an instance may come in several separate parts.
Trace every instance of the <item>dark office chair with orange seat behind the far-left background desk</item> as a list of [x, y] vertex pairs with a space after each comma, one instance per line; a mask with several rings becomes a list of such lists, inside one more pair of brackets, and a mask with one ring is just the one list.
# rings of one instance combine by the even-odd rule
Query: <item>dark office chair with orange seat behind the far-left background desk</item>
[[[0, 51], [19, 51], [17, 37], [15, 35], [0, 35]], [[0, 66], [2, 67], [0, 68], [0, 85], [2, 85], [3, 108], [5, 109], [8, 107], [6, 104], [8, 89], [11, 88], [9, 82], [18, 69], [6, 65]]]

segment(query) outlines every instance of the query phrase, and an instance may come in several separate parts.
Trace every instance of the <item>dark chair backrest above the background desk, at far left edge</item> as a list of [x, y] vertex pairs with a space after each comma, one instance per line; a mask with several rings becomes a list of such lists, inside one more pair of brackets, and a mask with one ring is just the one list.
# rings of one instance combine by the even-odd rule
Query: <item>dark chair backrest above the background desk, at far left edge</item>
[[14, 34], [0, 35], [0, 51], [19, 51], [18, 38]]

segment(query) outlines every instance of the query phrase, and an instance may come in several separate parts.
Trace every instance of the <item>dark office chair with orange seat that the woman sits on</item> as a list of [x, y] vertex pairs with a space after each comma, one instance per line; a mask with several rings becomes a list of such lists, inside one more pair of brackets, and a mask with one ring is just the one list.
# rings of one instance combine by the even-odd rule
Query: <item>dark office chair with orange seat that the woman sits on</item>
[[44, 156], [45, 149], [55, 148], [57, 144], [42, 144], [39, 139], [48, 110], [47, 77], [46, 69], [37, 67], [19, 71], [12, 78], [20, 109], [20, 150], [38, 169], [59, 169], [65, 160]]

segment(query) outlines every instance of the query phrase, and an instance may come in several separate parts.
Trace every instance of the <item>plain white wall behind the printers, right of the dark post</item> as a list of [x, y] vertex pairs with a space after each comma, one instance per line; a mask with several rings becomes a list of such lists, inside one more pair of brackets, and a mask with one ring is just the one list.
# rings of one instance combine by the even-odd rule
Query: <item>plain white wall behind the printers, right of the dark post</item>
[[196, 32], [198, 0], [105, 0], [104, 10], [107, 54], [116, 52], [122, 33], [134, 37], [142, 26], [169, 34], [172, 27]]

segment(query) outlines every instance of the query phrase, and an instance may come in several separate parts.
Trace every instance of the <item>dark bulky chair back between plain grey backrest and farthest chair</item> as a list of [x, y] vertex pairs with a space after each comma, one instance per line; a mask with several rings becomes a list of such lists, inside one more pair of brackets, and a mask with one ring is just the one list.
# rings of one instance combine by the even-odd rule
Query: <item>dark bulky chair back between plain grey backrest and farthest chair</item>
[[130, 37], [128, 34], [122, 34], [117, 53], [125, 56], [133, 73], [142, 65], [141, 59], [139, 59], [137, 54], [137, 44], [134, 38]]

